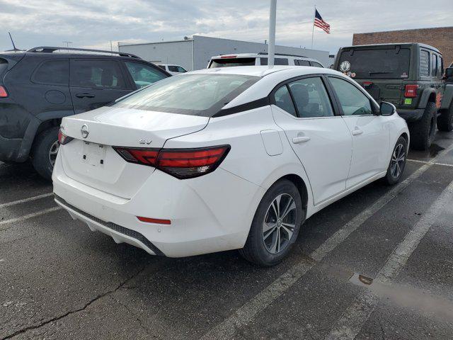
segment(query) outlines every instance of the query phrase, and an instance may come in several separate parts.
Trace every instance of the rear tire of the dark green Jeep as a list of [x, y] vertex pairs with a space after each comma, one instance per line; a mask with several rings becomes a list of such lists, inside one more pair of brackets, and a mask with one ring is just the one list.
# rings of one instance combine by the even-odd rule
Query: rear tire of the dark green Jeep
[[429, 102], [420, 120], [409, 125], [411, 147], [415, 150], [428, 150], [436, 133], [436, 104]]

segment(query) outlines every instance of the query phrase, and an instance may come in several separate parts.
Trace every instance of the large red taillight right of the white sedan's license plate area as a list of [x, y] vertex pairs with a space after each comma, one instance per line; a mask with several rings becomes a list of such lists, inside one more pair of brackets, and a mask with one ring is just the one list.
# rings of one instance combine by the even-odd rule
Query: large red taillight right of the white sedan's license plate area
[[190, 179], [214, 171], [229, 152], [229, 145], [200, 149], [137, 149], [113, 147], [125, 161], [154, 166], [178, 179]]

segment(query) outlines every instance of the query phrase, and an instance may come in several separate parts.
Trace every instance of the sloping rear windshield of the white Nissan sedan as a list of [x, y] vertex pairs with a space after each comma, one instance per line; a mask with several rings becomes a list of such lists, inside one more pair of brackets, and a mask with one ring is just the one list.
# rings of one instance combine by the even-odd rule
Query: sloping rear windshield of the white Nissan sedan
[[158, 81], [113, 107], [212, 117], [259, 79], [239, 74], [184, 74]]

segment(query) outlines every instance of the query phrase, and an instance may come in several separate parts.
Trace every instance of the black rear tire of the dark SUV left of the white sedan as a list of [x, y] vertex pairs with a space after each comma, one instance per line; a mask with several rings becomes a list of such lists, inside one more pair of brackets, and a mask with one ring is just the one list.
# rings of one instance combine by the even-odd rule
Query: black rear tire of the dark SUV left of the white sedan
[[53, 164], [50, 161], [50, 149], [58, 141], [58, 127], [42, 131], [33, 142], [31, 162], [36, 172], [47, 180], [52, 180]]

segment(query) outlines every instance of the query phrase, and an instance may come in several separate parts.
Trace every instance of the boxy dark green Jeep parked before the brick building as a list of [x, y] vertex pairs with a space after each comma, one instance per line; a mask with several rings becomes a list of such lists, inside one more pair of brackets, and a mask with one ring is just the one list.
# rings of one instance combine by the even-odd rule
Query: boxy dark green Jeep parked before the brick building
[[333, 68], [363, 86], [378, 103], [396, 106], [411, 132], [413, 149], [428, 149], [436, 122], [453, 130], [453, 76], [444, 77], [442, 54], [418, 43], [356, 45], [338, 51]]

